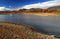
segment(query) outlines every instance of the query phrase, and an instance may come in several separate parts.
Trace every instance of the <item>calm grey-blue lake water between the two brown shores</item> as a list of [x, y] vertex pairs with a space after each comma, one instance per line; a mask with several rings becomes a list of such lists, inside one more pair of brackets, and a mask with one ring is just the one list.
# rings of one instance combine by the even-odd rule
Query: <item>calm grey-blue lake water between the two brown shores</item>
[[31, 25], [37, 31], [60, 35], [60, 17], [36, 16], [26, 14], [0, 15], [0, 21]]

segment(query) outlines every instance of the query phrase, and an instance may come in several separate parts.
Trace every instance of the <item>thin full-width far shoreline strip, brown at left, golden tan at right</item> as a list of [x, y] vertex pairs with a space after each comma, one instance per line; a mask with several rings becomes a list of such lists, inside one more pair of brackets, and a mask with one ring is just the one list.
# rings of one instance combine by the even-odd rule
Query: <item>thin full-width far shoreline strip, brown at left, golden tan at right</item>
[[23, 13], [0, 13], [1, 14], [27, 14], [27, 15], [37, 15], [37, 16], [58, 16], [60, 17], [60, 13], [29, 13], [29, 12], [23, 12]]

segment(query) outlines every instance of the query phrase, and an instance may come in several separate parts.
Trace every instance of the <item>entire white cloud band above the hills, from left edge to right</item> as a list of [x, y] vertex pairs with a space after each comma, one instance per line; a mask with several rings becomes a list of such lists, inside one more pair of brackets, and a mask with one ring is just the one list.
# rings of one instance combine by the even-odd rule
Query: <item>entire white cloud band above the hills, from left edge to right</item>
[[[51, 0], [51, 1], [47, 1], [47, 2], [43, 2], [43, 3], [35, 3], [35, 4], [29, 4], [29, 5], [25, 5], [23, 7], [20, 8], [16, 8], [16, 9], [10, 9], [10, 8], [6, 8], [6, 7], [0, 7], [0, 11], [14, 11], [14, 10], [19, 10], [19, 9], [30, 9], [30, 8], [42, 8], [42, 9], [46, 9], [52, 6], [58, 6], [60, 5], [60, 0]], [[11, 7], [11, 6], [9, 6]]]

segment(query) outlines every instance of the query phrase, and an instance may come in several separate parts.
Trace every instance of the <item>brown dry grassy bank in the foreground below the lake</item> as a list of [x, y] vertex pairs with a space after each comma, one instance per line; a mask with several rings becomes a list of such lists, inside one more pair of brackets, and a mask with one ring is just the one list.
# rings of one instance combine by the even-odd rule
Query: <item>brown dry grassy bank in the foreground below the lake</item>
[[57, 39], [33, 30], [31, 27], [0, 22], [0, 39]]

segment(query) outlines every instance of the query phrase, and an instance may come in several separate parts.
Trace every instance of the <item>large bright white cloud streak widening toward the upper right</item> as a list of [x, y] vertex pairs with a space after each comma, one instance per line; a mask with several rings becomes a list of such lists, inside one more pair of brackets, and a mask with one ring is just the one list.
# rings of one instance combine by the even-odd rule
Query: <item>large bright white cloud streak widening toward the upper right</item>
[[26, 8], [26, 9], [30, 9], [30, 8], [42, 8], [42, 9], [46, 9], [52, 6], [58, 6], [60, 5], [60, 0], [51, 0], [51, 1], [47, 1], [47, 2], [43, 2], [43, 3], [35, 3], [35, 4], [29, 4], [29, 5], [25, 5], [22, 8]]

